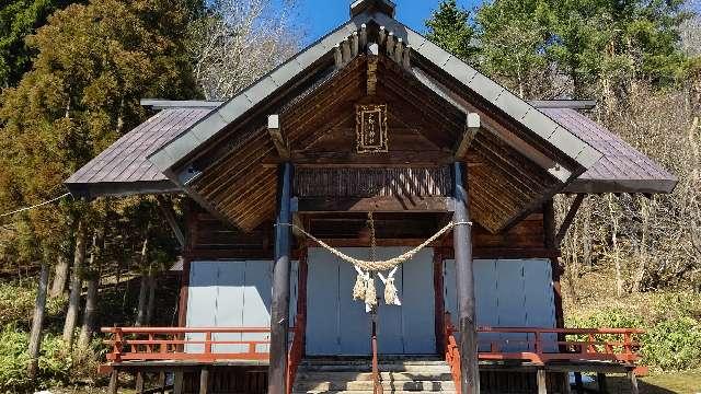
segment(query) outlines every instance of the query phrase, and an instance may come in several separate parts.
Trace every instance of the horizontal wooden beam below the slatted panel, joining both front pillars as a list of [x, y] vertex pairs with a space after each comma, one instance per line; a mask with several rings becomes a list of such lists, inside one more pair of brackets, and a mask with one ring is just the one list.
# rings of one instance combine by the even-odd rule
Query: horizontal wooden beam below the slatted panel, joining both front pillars
[[292, 210], [303, 213], [326, 212], [451, 212], [450, 197], [368, 197], [292, 199]]

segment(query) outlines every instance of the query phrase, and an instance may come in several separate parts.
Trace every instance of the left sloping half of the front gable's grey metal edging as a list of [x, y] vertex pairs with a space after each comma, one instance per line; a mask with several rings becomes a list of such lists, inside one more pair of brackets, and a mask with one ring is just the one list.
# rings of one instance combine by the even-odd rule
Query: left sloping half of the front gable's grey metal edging
[[210, 140], [229, 124], [235, 121], [241, 115], [269, 97], [287, 82], [299, 76], [323, 56], [331, 53], [336, 44], [359, 30], [364, 23], [370, 22], [374, 15], [361, 13], [340, 25], [331, 33], [292, 56], [283, 65], [263, 76], [237, 96], [218, 106], [217, 109], [212, 111], [205, 118], [151, 153], [148, 160], [161, 172], [166, 173], [170, 169], [191, 155], [197, 147]]

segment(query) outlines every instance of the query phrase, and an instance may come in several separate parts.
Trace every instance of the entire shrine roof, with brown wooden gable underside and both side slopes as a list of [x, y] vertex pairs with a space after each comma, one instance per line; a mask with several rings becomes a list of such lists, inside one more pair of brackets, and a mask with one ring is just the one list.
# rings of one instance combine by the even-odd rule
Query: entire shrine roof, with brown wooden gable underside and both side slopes
[[[394, 21], [393, 10], [388, 0], [356, 1], [348, 23], [226, 103], [171, 108], [177, 103], [145, 102], [165, 108], [150, 120], [162, 127], [147, 123], [129, 132], [71, 176], [69, 188], [90, 197], [181, 190], [252, 230], [275, 212], [279, 157], [265, 128], [271, 114], [279, 115], [288, 151], [300, 164], [423, 160], [444, 165], [457, 159], [474, 164], [468, 179], [473, 220], [493, 232], [567, 187], [595, 193], [674, 187], [674, 177], [652, 161], [645, 169], [612, 171], [611, 163], [630, 165], [641, 154], [627, 146], [602, 159], [616, 140], [608, 131], [591, 132], [586, 117], [558, 104], [522, 101]], [[355, 105], [378, 100], [388, 104], [389, 128], [404, 142], [386, 154], [359, 155], [344, 130], [355, 129]], [[468, 114], [479, 115], [482, 125], [471, 148], [456, 159], [455, 143], [468, 135]], [[321, 139], [329, 144], [314, 144]], [[578, 183], [597, 163], [606, 171]]]

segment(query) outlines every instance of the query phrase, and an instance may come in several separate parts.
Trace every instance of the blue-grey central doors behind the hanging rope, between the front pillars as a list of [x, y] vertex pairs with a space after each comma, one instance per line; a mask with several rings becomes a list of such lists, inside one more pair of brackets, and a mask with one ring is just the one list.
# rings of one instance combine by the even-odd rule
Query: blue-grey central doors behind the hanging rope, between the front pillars
[[[377, 258], [387, 259], [410, 247], [378, 247]], [[340, 248], [368, 258], [367, 247]], [[308, 251], [307, 355], [370, 355], [371, 318], [363, 301], [353, 300], [356, 271], [353, 266], [320, 247]], [[433, 250], [425, 248], [402, 264], [395, 274], [401, 306], [379, 301], [378, 343], [382, 355], [436, 354]], [[378, 298], [382, 286], [376, 279]]]

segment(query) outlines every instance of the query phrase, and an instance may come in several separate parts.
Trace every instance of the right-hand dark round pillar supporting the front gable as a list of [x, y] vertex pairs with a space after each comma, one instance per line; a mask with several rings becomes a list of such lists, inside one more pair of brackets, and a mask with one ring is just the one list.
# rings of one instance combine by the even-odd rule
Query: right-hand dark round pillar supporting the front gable
[[474, 276], [472, 264], [472, 227], [464, 165], [453, 163], [455, 216], [452, 230], [458, 292], [458, 329], [460, 331], [460, 386], [462, 394], [480, 393], [478, 333], [475, 324]]

